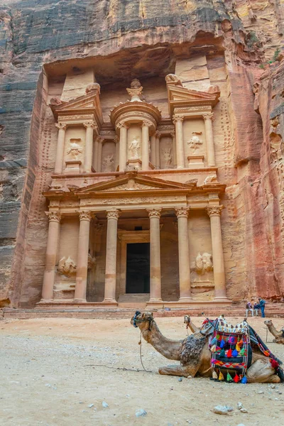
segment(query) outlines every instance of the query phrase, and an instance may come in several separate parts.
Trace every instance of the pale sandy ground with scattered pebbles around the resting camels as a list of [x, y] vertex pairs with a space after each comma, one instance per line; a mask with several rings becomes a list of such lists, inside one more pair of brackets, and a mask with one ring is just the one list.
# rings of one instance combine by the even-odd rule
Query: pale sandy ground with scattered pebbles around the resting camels
[[[231, 318], [231, 322], [240, 319]], [[194, 319], [197, 325], [202, 318]], [[167, 337], [186, 336], [181, 317], [158, 318]], [[274, 319], [276, 327], [283, 320]], [[266, 339], [261, 318], [250, 324]], [[284, 425], [284, 386], [215, 383], [207, 378], [160, 376], [169, 361], [143, 341], [129, 320], [48, 318], [0, 322], [0, 424], [89, 425]], [[273, 337], [268, 334], [268, 342]], [[268, 344], [284, 361], [284, 345]], [[172, 362], [173, 364], [173, 362]], [[124, 369], [125, 368], [125, 369]], [[238, 402], [249, 411], [240, 413]], [[109, 407], [103, 408], [106, 402]], [[212, 413], [231, 405], [231, 415]], [[146, 410], [136, 417], [136, 410]]]

